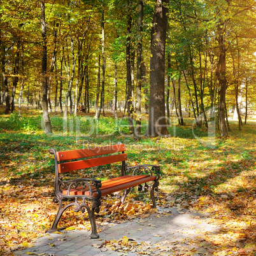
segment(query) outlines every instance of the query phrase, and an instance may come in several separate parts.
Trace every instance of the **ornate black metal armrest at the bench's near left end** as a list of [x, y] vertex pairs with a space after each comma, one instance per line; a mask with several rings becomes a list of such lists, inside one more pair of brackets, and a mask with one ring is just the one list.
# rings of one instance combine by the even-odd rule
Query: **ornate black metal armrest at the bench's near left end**
[[[90, 195], [92, 196], [93, 192], [97, 190], [97, 198], [101, 197], [101, 180], [95, 180], [91, 178], [78, 178], [74, 180], [62, 180], [59, 178], [59, 182], [55, 187], [55, 192], [57, 194], [62, 194], [64, 190], [66, 190], [67, 195], [70, 196], [70, 192], [78, 189], [78, 190], [88, 190]], [[94, 191], [93, 191], [94, 190]], [[73, 197], [73, 196], [72, 196]]]

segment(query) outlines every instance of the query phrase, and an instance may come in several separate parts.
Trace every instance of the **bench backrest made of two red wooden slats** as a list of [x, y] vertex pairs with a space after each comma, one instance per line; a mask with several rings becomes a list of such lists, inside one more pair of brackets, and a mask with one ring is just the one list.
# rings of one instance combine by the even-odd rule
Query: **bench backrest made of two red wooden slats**
[[[85, 148], [81, 150], [69, 150], [56, 152], [56, 160], [58, 163], [58, 173], [68, 173], [79, 169], [85, 169], [113, 162], [123, 162], [127, 160], [124, 144], [99, 146], [96, 148]], [[101, 156], [102, 155], [102, 156]], [[106, 155], [106, 156], [103, 156]], [[99, 157], [101, 156], [101, 157]], [[80, 159], [80, 160], [76, 160]], [[72, 162], [62, 162], [75, 160]]]

